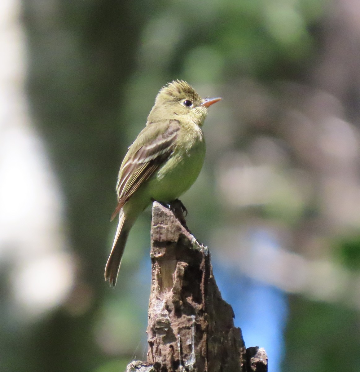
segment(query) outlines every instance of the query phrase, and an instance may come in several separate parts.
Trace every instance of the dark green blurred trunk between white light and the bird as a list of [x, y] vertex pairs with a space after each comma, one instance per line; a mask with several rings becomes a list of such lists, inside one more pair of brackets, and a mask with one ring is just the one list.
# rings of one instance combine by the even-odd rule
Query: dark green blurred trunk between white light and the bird
[[90, 288], [93, 299], [82, 315], [59, 309], [36, 326], [27, 371], [89, 372], [102, 361], [93, 322], [106, 289], [103, 267], [115, 202], [109, 190], [120, 164], [121, 98], [148, 4], [34, 0], [22, 6], [30, 111], [65, 196], [68, 234], [83, 264], [78, 283]]

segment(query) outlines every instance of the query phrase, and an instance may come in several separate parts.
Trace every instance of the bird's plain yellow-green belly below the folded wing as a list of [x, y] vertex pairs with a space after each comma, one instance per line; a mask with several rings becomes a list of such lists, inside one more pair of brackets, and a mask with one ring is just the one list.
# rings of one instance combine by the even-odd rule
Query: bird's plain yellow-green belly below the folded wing
[[173, 154], [150, 180], [150, 198], [161, 202], [179, 198], [199, 176], [204, 158], [203, 142], [187, 152]]

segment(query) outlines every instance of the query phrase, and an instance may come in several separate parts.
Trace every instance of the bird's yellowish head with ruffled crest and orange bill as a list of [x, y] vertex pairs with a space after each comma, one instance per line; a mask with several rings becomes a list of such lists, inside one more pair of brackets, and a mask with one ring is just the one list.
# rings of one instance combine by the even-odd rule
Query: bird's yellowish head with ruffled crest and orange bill
[[202, 99], [186, 81], [174, 80], [160, 89], [148, 121], [175, 119], [192, 121], [201, 126], [208, 107], [219, 100], [219, 97]]

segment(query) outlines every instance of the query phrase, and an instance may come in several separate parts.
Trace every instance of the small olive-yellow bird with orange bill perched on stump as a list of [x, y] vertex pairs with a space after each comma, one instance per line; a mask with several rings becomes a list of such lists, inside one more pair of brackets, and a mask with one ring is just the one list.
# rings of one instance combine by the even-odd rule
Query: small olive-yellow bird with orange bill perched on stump
[[221, 97], [202, 99], [183, 80], [160, 89], [144, 129], [120, 166], [118, 204], [111, 221], [118, 227], [105, 266], [105, 281], [115, 286], [129, 231], [153, 201], [169, 204], [195, 182], [205, 158], [202, 126], [209, 106]]

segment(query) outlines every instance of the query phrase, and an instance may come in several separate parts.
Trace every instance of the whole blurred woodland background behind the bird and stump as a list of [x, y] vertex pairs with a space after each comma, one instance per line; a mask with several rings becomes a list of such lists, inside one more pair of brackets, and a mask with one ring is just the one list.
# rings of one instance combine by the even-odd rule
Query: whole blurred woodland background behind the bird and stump
[[222, 96], [181, 198], [269, 371], [360, 371], [360, 4], [2, 0], [0, 371], [146, 359], [150, 210], [103, 281], [122, 157], [175, 78]]

